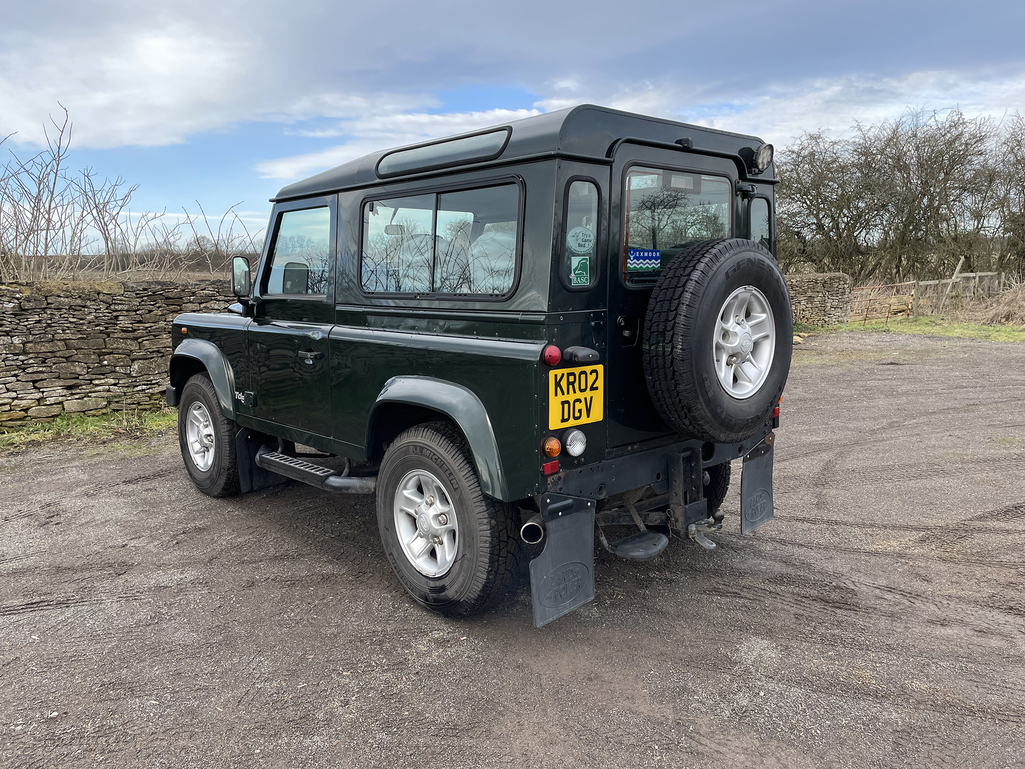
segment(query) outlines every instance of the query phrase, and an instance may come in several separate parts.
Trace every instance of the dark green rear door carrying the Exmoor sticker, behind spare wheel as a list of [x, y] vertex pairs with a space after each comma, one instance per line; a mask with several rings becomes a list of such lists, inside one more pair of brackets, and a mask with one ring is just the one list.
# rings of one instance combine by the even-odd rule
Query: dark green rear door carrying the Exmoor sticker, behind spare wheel
[[689, 243], [733, 237], [730, 160], [624, 143], [612, 166], [609, 228], [608, 446], [672, 435], [644, 377], [644, 318], [661, 268]]

